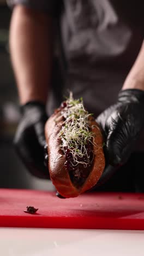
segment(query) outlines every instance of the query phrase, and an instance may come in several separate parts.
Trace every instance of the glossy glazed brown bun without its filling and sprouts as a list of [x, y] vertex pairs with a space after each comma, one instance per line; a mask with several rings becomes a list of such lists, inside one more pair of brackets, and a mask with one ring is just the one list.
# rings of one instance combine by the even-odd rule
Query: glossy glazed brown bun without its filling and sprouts
[[[66, 158], [62, 150], [62, 140], [59, 137], [59, 132], [63, 126], [61, 110], [62, 108], [57, 109], [47, 120], [45, 125], [45, 137], [49, 155], [48, 168], [51, 181], [53, 185], [55, 185], [58, 193], [63, 197], [76, 197], [86, 190], [91, 189], [99, 181], [99, 178], [103, 173], [105, 167], [103, 136], [94, 118], [89, 116], [89, 127], [95, 135], [93, 138], [94, 144], [92, 146], [93, 160], [91, 166], [88, 168], [88, 174], [87, 177], [84, 178], [84, 182], [82, 182], [81, 185], [76, 184], [75, 179], [71, 178], [73, 176], [73, 171], [69, 172], [67, 166], [65, 166]], [[83, 173], [84, 172], [85, 167], [83, 167]], [[79, 181], [80, 179], [77, 179], [77, 183], [79, 183]]]

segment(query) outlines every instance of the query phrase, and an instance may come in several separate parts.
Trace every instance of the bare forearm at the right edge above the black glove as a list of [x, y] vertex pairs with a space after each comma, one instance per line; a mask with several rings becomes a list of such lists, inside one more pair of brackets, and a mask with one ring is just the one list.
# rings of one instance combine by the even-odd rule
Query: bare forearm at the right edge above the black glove
[[144, 43], [131, 71], [125, 79], [122, 89], [144, 90]]

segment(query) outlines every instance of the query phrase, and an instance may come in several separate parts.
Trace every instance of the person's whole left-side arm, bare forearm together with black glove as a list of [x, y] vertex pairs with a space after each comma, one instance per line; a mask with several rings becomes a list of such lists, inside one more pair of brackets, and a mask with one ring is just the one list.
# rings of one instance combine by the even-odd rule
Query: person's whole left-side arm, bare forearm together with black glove
[[15, 5], [9, 40], [22, 112], [14, 144], [23, 164], [40, 178], [49, 177], [44, 128], [52, 69], [52, 18], [44, 11]]

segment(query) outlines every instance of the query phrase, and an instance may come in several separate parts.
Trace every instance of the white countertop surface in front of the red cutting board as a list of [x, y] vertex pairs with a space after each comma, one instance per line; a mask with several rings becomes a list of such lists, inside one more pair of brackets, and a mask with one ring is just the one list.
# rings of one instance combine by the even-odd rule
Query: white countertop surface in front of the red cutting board
[[2, 256], [143, 256], [144, 231], [0, 228]]

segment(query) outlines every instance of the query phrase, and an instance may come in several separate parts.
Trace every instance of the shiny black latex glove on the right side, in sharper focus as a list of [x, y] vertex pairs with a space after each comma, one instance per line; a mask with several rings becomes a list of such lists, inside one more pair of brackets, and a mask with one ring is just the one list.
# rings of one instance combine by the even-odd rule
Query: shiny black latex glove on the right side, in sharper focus
[[104, 134], [106, 156], [106, 168], [99, 185], [127, 162], [135, 149], [144, 129], [144, 91], [128, 89], [119, 92], [117, 103], [101, 113], [96, 121]]

